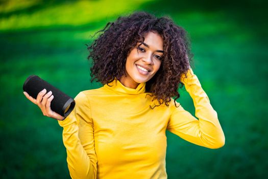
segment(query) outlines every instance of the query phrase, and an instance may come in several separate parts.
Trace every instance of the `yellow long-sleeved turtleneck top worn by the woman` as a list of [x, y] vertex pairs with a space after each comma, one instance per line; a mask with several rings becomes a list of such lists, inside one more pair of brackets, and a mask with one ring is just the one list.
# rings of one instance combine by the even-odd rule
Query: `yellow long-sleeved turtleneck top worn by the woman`
[[119, 80], [80, 92], [64, 120], [63, 143], [72, 178], [167, 178], [166, 130], [193, 144], [219, 148], [225, 143], [217, 113], [192, 70], [182, 76], [196, 117], [172, 100], [153, 109], [145, 83], [136, 89]]

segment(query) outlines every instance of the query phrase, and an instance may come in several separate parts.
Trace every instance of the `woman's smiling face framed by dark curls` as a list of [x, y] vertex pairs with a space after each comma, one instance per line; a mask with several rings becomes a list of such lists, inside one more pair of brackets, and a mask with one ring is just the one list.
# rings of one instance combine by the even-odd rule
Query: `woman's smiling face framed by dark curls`
[[145, 34], [144, 41], [137, 42], [126, 62], [126, 76], [119, 81], [127, 87], [136, 88], [149, 81], [159, 70], [163, 57], [163, 39], [154, 32]]

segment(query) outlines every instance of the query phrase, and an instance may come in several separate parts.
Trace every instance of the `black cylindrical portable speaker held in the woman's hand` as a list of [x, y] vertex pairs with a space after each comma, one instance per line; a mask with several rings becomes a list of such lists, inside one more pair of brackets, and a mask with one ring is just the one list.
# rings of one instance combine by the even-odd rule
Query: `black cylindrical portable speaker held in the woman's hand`
[[75, 107], [75, 100], [61, 92], [59, 89], [41, 79], [37, 75], [29, 76], [23, 84], [23, 91], [31, 97], [37, 98], [37, 95], [44, 88], [46, 93], [52, 92], [54, 98], [51, 101], [51, 109], [63, 117], [67, 117]]

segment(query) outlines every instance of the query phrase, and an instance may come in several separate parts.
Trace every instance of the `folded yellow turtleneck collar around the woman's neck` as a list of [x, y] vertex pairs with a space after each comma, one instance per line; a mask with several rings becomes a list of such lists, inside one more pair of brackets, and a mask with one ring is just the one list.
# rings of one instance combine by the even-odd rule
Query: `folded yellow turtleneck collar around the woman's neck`
[[140, 83], [136, 89], [124, 86], [119, 80], [114, 79], [112, 82], [105, 84], [105, 88], [111, 89], [115, 92], [130, 94], [130, 95], [138, 95], [141, 93], [145, 93], [145, 83]]

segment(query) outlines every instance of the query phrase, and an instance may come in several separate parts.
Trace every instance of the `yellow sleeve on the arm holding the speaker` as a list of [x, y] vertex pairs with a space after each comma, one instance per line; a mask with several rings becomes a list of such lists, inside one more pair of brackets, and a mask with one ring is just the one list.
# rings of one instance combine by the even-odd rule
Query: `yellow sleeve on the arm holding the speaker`
[[80, 92], [75, 109], [59, 121], [63, 127], [63, 143], [71, 178], [96, 178], [97, 158], [94, 150], [93, 122], [87, 96]]

